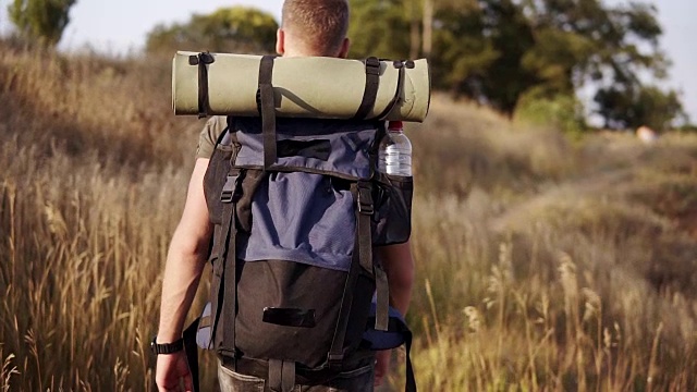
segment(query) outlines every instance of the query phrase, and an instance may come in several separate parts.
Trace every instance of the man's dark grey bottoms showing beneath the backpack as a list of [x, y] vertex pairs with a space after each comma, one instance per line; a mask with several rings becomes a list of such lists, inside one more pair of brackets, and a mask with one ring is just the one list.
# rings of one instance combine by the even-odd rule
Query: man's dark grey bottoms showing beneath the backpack
[[[370, 392], [375, 379], [375, 362], [366, 358], [353, 370], [340, 372], [321, 385], [296, 384], [293, 392]], [[221, 392], [268, 392], [264, 379], [241, 375], [218, 365]]]

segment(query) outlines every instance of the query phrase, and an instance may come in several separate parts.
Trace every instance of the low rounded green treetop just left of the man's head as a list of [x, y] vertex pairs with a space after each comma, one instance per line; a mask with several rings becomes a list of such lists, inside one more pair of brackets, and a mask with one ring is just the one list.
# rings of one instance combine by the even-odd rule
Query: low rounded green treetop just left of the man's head
[[278, 27], [273, 16], [255, 8], [222, 8], [209, 15], [193, 15], [185, 24], [155, 27], [146, 50], [271, 53]]

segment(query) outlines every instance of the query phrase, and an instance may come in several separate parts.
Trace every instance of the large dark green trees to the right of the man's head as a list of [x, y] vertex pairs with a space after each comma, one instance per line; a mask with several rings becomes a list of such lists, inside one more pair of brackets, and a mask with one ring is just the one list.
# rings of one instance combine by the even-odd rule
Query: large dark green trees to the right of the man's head
[[[555, 97], [571, 97], [588, 86], [599, 91], [596, 110], [611, 126], [633, 124], [637, 118], [665, 124], [681, 113], [674, 91], [661, 97], [658, 91], [643, 88], [638, 77], [648, 75], [660, 81], [669, 65], [658, 46], [662, 28], [657, 9], [649, 3], [616, 7], [600, 0], [351, 0], [350, 3], [353, 13], [350, 37], [355, 57], [429, 57], [435, 88], [469, 97], [509, 115], [524, 97], [543, 94], [545, 100], [555, 101]], [[432, 15], [426, 11], [427, 4], [433, 7]], [[608, 89], [614, 89], [612, 99], [607, 97]], [[616, 100], [644, 103], [640, 108], [634, 103], [616, 107]]]

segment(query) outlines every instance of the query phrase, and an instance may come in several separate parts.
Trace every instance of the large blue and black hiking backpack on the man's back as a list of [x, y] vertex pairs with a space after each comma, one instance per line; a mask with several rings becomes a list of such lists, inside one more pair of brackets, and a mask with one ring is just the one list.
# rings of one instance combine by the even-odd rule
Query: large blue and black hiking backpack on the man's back
[[406, 343], [416, 391], [411, 333], [372, 257], [411, 234], [412, 177], [376, 170], [384, 122], [276, 119], [259, 93], [262, 115], [228, 118], [204, 180], [215, 224], [208, 345], [290, 392]]

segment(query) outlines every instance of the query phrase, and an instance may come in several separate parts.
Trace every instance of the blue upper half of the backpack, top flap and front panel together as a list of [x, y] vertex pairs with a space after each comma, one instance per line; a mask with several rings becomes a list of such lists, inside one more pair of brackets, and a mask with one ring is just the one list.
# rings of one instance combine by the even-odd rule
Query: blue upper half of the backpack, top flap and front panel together
[[[236, 118], [231, 126], [241, 146], [235, 167], [260, 169], [260, 120]], [[278, 119], [278, 158], [249, 200], [254, 218], [245, 225], [248, 232], [237, 233], [237, 257], [347, 271], [356, 226], [350, 187], [372, 175], [378, 127], [365, 121]]]

